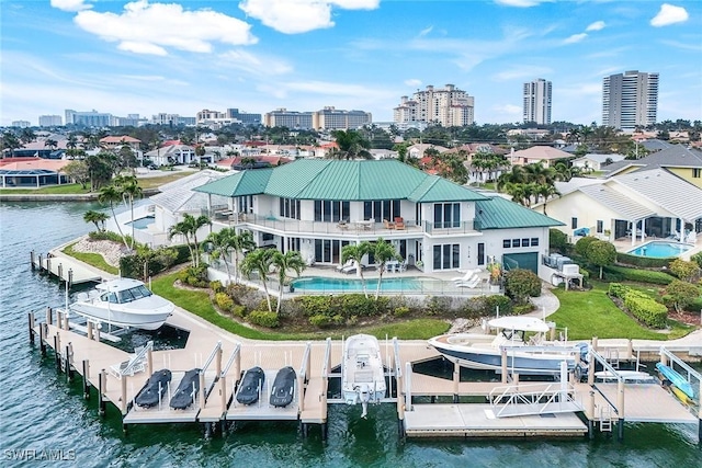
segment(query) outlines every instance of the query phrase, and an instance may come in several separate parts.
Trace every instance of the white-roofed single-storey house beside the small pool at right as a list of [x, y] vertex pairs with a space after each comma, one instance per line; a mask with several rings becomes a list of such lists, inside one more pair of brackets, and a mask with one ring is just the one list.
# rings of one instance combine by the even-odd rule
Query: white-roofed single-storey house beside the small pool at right
[[634, 244], [687, 233], [682, 240], [693, 243], [702, 232], [702, 190], [661, 168], [604, 180], [574, 178], [556, 189], [561, 196], [534, 209], [564, 222], [559, 229], [570, 236], [589, 228], [591, 235]]

